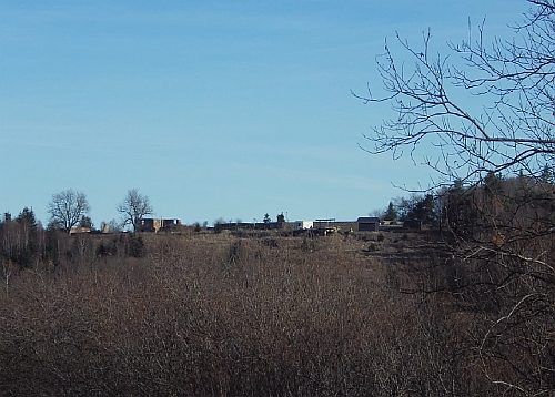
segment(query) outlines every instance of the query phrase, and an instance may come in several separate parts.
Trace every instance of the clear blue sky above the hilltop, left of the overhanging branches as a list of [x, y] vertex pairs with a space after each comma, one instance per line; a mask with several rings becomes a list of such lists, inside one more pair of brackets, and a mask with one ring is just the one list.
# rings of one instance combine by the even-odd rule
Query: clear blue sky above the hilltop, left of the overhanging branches
[[[82, 191], [98, 226], [137, 187], [157, 216], [354, 220], [426, 185], [371, 156], [387, 109], [374, 57], [395, 31], [435, 50], [467, 20], [506, 34], [524, 0], [0, 0], [0, 211]], [[403, 57], [400, 53], [401, 58]], [[400, 58], [400, 59], [401, 59]]]

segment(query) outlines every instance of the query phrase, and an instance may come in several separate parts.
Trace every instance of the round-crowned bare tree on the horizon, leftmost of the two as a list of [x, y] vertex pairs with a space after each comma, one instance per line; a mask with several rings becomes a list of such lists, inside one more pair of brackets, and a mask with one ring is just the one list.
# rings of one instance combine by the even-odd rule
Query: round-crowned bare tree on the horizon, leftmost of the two
[[85, 216], [91, 206], [82, 192], [67, 190], [52, 195], [48, 204], [50, 221], [62, 227], [68, 234]]

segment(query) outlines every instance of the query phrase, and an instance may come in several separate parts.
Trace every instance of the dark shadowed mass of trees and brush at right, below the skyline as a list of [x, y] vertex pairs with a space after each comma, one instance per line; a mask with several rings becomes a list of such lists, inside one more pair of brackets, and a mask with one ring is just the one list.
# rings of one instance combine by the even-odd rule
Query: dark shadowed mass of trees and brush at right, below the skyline
[[455, 183], [442, 190], [433, 203], [435, 216], [430, 221], [438, 226], [438, 252], [444, 256], [397, 263], [394, 286], [407, 294], [441, 295], [450, 316], [471, 319], [465, 332], [472, 340], [464, 342], [464, 349], [475, 355], [487, 379], [503, 386], [504, 395], [552, 395], [552, 180], [491, 173], [480, 184]]

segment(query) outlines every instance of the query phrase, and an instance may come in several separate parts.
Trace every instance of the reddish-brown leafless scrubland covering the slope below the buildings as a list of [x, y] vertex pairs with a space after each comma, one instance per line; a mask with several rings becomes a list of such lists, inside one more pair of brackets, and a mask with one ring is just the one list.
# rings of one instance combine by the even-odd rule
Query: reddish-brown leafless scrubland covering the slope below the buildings
[[442, 279], [432, 234], [143, 235], [142, 257], [68, 238], [83, 240], [79, 257], [4, 265], [2, 396], [504, 390], [472, 348], [478, 314], [413, 288]]

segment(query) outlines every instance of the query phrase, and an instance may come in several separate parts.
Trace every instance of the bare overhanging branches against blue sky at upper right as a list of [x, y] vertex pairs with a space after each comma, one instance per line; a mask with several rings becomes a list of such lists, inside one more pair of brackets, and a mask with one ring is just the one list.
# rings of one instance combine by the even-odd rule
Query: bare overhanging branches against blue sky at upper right
[[[415, 49], [397, 34], [414, 60], [413, 68], [395, 60], [386, 43], [377, 64], [385, 94], [356, 98], [365, 103], [389, 102], [396, 115], [366, 135], [371, 153], [416, 156], [425, 144], [437, 155], [424, 163], [442, 176], [437, 182], [476, 182], [490, 172], [537, 175], [555, 150], [555, 6], [535, 4], [516, 37], [484, 43], [484, 26], [476, 40], [450, 44], [460, 61], [430, 53], [430, 31]], [[455, 100], [454, 98], [457, 98]], [[473, 114], [471, 105], [482, 104]]]

